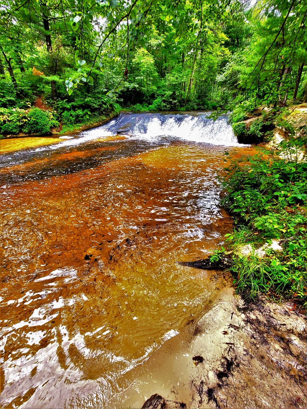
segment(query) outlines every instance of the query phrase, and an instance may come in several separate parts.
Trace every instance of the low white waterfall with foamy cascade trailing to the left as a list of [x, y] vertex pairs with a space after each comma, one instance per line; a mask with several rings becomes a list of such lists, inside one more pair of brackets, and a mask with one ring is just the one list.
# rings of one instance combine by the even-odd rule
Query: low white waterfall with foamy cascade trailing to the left
[[[244, 146], [239, 144], [228, 123], [228, 115], [221, 115], [215, 121], [211, 112], [121, 112], [102, 126], [84, 130], [72, 139], [39, 148], [29, 148], [2, 155], [0, 168], [20, 164], [31, 158], [47, 157], [52, 152], [83, 150], [85, 146], [93, 150], [101, 144], [117, 143], [116, 135], [121, 135], [121, 143], [126, 151], [121, 154], [140, 153], [148, 148], [162, 146], [170, 142], [187, 141], [220, 146]], [[127, 142], [127, 144], [125, 143]], [[130, 146], [130, 148], [129, 148]], [[125, 153], [124, 153], [125, 152]]]

